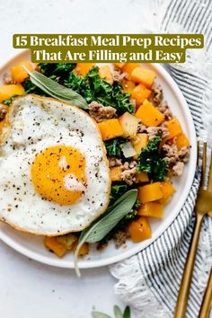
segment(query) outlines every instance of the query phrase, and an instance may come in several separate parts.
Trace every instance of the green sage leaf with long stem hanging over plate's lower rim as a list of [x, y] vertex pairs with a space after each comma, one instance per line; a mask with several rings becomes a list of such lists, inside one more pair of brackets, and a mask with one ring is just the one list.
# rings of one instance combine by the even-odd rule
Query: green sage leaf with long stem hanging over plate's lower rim
[[90, 227], [85, 229], [79, 238], [79, 243], [75, 250], [75, 272], [80, 277], [78, 268], [78, 253], [81, 246], [86, 243], [96, 243], [102, 240], [110, 231], [118, 225], [119, 221], [128, 214], [137, 200], [137, 190], [128, 190], [124, 193], [108, 211]]

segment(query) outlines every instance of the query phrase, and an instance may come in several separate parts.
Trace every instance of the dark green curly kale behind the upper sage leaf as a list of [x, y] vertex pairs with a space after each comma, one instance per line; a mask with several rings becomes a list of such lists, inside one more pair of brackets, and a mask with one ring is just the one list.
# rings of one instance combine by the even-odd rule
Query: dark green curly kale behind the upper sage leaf
[[[117, 109], [118, 115], [128, 111], [135, 111], [134, 105], [129, 102], [129, 93], [123, 93], [120, 84], [109, 84], [99, 75], [99, 67], [93, 68], [84, 76], [77, 75], [73, 71], [75, 63], [40, 63], [40, 72], [55, 82], [71, 88], [82, 95], [87, 103], [96, 101], [104, 106], [112, 106]], [[46, 96], [36, 85], [28, 79], [23, 83], [26, 93], [36, 93]]]

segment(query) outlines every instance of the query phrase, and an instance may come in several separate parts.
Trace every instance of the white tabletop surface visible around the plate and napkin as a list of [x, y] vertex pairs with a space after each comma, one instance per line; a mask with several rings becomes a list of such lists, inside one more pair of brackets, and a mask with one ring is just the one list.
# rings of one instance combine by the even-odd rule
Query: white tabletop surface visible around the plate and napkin
[[[133, 33], [144, 25], [145, 0], [0, 0], [0, 64], [17, 50], [13, 33]], [[1, 173], [1, 172], [0, 172]], [[107, 268], [51, 268], [30, 261], [0, 242], [0, 316], [89, 318], [93, 306], [112, 314], [124, 304], [114, 295]]]

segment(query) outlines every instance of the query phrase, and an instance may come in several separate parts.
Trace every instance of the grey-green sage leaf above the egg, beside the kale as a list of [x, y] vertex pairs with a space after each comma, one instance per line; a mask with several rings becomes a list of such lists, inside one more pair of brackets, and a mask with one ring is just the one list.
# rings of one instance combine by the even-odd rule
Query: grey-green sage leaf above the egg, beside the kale
[[45, 93], [56, 98], [59, 101], [68, 102], [84, 110], [88, 110], [88, 104], [83, 96], [76, 93], [70, 88], [67, 88], [49, 77], [42, 75], [37, 71], [30, 72], [26, 66], [22, 66], [24, 70], [30, 75], [31, 83], [36, 85]]

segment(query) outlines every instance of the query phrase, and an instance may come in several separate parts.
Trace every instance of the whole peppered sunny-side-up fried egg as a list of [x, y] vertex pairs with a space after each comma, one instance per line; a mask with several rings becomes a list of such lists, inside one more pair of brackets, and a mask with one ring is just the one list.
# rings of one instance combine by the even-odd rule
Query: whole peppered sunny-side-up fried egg
[[0, 218], [31, 234], [84, 230], [109, 204], [100, 131], [84, 111], [36, 95], [14, 100], [0, 145]]

